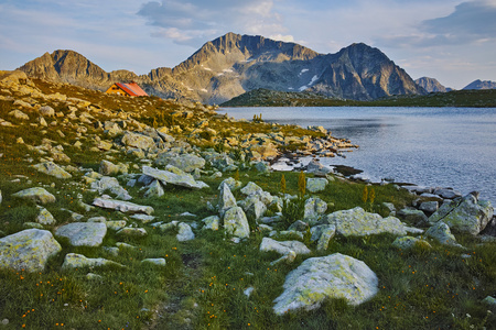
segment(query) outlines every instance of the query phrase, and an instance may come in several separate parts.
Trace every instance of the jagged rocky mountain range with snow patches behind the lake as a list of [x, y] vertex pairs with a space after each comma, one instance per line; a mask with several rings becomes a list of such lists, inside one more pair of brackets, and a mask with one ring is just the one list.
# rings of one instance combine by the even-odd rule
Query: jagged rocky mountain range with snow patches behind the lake
[[149, 95], [205, 103], [222, 103], [259, 88], [353, 100], [425, 94], [382, 52], [365, 44], [324, 55], [295, 43], [234, 33], [207, 42], [174, 68], [142, 76], [106, 73], [73, 51], [46, 53], [20, 69], [31, 77], [100, 90], [115, 81], [134, 80]]

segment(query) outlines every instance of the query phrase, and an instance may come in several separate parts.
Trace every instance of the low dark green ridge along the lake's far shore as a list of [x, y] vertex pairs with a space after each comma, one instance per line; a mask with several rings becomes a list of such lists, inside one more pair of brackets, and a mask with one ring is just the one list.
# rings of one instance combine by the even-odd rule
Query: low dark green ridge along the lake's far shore
[[454, 90], [425, 96], [391, 96], [373, 101], [327, 98], [314, 92], [267, 89], [248, 91], [223, 107], [462, 107], [495, 108], [496, 90]]

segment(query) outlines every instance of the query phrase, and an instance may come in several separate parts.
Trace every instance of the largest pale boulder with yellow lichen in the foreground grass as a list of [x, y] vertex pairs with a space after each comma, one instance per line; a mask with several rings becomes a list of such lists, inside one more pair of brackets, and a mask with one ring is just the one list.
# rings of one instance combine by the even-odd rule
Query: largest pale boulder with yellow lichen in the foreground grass
[[344, 298], [359, 305], [378, 293], [377, 275], [362, 261], [341, 253], [305, 260], [290, 272], [273, 311], [319, 308], [326, 298]]

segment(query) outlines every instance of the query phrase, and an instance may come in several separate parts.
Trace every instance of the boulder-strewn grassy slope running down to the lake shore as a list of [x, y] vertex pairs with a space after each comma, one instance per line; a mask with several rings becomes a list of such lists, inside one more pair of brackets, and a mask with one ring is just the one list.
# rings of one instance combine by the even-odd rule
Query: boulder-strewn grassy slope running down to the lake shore
[[[121, 319], [133, 328], [285, 328], [278, 316], [291, 328], [299, 316], [338, 328], [397, 328], [393, 305], [388, 317], [369, 316], [393, 295], [405, 299], [395, 309], [412, 318], [425, 312], [421, 297], [441, 309], [440, 317], [429, 311], [433, 323], [414, 319], [418, 327], [496, 322], [496, 221], [477, 193], [367, 186], [317, 161], [298, 185], [288, 173], [287, 188], [271, 162], [354, 145], [322, 128], [235, 121], [200, 103], [111, 97], [13, 72], [0, 74], [0, 106], [6, 327], [55, 327], [60, 317], [74, 329], [120, 328]], [[403, 266], [418, 272], [406, 257], [418, 268], [438, 257], [442, 267], [454, 265], [436, 289], [451, 282], [463, 299], [440, 302], [422, 292], [424, 283], [405, 277]], [[428, 277], [440, 272], [423, 270]], [[62, 307], [44, 300], [44, 274], [72, 283], [68, 297], [62, 288], [53, 294]], [[15, 297], [13, 288], [25, 294]], [[25, 308], [51, 316], [30, 318]], [[488, 314], [465, 316], [481, 309]], [[353, 320], [355, 312], [362, 318]]]

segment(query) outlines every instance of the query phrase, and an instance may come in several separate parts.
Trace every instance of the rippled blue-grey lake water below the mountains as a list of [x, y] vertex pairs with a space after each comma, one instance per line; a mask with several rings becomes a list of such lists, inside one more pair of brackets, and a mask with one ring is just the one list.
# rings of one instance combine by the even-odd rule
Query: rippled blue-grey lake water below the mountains
[[322, 125], [359, 148], [324, 165], [363, 169], [373, 182], [481, 191], [496, 205], [496, 109], [472, 108], [225, 108], [236, 119]]

